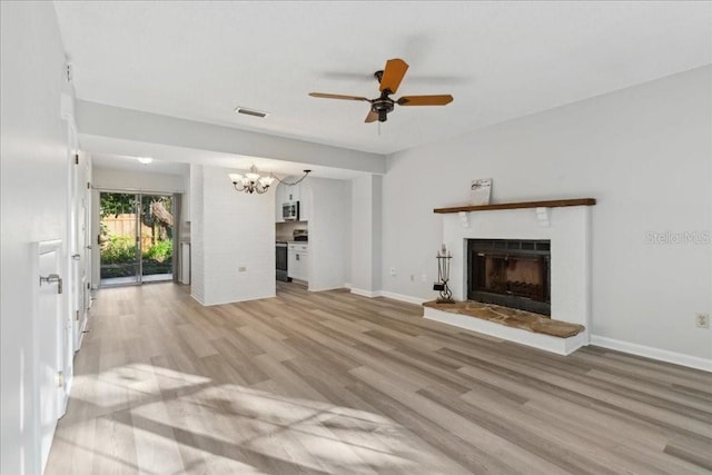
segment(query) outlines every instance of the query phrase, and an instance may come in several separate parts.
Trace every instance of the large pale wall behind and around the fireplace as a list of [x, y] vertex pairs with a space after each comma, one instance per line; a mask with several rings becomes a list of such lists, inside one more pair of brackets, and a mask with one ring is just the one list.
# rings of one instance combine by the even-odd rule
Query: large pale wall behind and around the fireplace
[[710, 85], [704, 67], [393, 155], [384, 290], [435, 296], [432, 278], [407, 277], [436, 273], [443, 218], [433, 208], [466, 202], [473, 178], [493, 178], [495, 202], [593, 197], [593, 334], [712, 358], [712, 330], [694, 325], [712, 309], [710, 244], [646, 236], [711, 230]]

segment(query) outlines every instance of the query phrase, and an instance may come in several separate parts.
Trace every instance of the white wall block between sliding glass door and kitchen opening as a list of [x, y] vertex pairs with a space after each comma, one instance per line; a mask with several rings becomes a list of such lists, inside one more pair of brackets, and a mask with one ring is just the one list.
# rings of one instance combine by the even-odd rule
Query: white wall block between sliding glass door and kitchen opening
[[274, 190], [238, 192], [233, 171], [245, 172], [190, 167], [191, 294], [204, 305], [275, 296]]

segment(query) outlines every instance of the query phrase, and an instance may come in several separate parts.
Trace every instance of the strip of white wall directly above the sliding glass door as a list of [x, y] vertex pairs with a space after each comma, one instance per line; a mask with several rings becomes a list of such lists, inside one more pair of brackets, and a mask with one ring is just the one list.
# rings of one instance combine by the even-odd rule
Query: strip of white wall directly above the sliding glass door
[[184, 192], [186, 177], [181, 175], [136, 172], [111, 168], [93, 168], [93, 188], [108, 190], [131, 190], [147, 192]]

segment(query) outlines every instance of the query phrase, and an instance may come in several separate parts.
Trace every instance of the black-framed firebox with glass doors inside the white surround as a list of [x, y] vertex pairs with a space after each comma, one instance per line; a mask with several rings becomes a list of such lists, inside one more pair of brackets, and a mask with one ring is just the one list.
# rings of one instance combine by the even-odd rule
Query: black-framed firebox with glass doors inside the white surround
[[551, 315], [551, 241], [467, 239], [467, 298]]

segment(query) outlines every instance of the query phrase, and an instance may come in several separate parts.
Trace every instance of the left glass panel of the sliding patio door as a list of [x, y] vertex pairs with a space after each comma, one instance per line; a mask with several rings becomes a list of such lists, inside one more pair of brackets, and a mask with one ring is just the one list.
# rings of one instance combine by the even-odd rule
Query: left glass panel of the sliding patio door
[[140, 284], [139, 196], [99, 194], [100, 285]]

